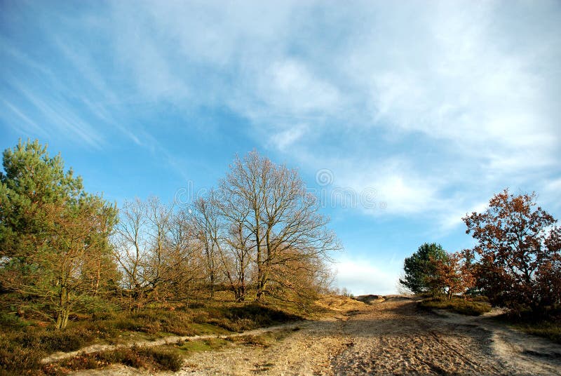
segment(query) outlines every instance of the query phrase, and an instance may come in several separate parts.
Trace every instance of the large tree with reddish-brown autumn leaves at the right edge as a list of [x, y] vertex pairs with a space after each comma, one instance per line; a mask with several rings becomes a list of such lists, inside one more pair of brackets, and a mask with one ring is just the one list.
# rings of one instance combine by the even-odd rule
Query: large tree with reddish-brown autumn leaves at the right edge
[[484, 213], [463, 218], [466, 233], [478, 241], [475, 286], [493, 304], [517, 311], [543, 311], [561, 299], [561, 230], [535, 199], [535, 193], [514, 196], [505, 189]]

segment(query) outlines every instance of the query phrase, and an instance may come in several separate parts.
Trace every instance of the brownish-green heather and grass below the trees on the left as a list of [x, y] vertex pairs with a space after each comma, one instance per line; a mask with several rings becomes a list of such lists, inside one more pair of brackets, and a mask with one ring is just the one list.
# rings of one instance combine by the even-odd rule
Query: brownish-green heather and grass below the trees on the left
[[[224, 295], [222, 295], [224, 297]], [[231, 297], [234, 300], [234, 297]], [[297, 307], [292, 307], [297, 311]], [[15, 314], [0, 314], [0, 375], [55, 375], [69, 370], [100, 368], [123, 363], [150, 370], [173, 370], [177, 357], [189, 351], [217, 349], [227, 340], [210, 339], [184, 342], [180, 347], [155, 349], [119, 349], [115, 354], [99, 352], [80, 355], [55, 364], [41, 364], [41, 359], [57, 351], [74, 351], [89, 344], [117, 344], [154, 340], [167, 335], [227, 335], [263, 326], [302, 319], [290, 311], [263, 304], [208, 301], [195, 308], [151, 308], [138, 313], [127, 310], [105, 315], [71, 318], [65, 330], [44, 327], [41, 321], [24, 320]], [[181, 351], [179, 351], [181, 350]], [[170, 352], [171, 351], [171, 352]]]

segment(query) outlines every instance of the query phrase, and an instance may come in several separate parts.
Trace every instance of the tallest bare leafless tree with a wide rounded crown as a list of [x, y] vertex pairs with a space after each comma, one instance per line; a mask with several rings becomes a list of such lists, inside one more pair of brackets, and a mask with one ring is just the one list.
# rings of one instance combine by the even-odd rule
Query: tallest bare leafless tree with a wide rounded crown
[[287, 270], [295, 275], [302, 270], [290, 265], [319, 265], [340, 249], [316, 197], [306, 192], [296, 170], [250, 152], [236, 158], [220, 189], [236, 203], [236, 210], [248, 209], [241, 229], [250, 234], [249, 247], [255, 249], [257, 300], [271, 293], [271, 282], [282, 283]]

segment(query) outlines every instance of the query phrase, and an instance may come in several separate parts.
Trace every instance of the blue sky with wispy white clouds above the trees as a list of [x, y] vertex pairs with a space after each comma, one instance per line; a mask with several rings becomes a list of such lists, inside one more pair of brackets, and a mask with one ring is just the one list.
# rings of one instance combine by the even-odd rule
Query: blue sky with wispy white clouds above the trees
[[506, 187], [561, 217], [558, 1], [2, 0], [0, 81], [0, 147], [38, 138], [118, 203], [252, 149], [298, 168], [356, 294], [471, 246]]

